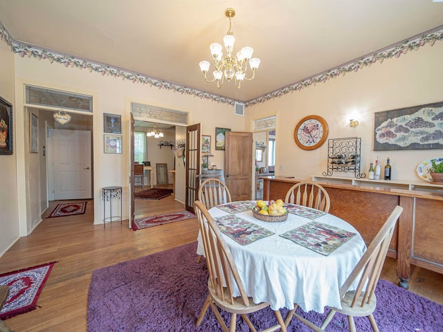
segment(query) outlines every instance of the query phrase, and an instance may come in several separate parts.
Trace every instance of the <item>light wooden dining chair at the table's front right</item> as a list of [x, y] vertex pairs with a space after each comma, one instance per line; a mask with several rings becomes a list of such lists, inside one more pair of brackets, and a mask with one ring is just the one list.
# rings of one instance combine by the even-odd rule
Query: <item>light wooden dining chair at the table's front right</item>
[[[379, 281], [386, 254], [388, 253], [395, 224], [402, 211], [403, 208], [401, 208], [401, 206], [397, 205], [397, 207], [395, 207], [370, 243], [368, 250], [366, 250], [359, 263], [357, 263], [354, 270], [352, 270], [350, 276], [347, 277], [345, 283], [341, 286], [341, 308], [332, 307], [325, 321], [319, 327], [305, 319], [305, 317], [298, 315], [298, 313], [296, 313], [296, 305], [292, 311], [289, 311], [284, 320], [286, 326], [289, 325], [291, 318], [295, 316], [311, 329], [314, 329], [314, 331], [324, 332], [335, 313], [343, 313], [343, 315], [347, 315], [350, 332], [356, 332], [354, 317], [368, 317], [372, 330], [378, 332], [379, 328], [374, 320], [374, 315], [372, 315], [377, 306], [377, 298], [375, 297], [374, 291]], [[350, 289], [354, 282], [358, 282], [355, 290]]]

